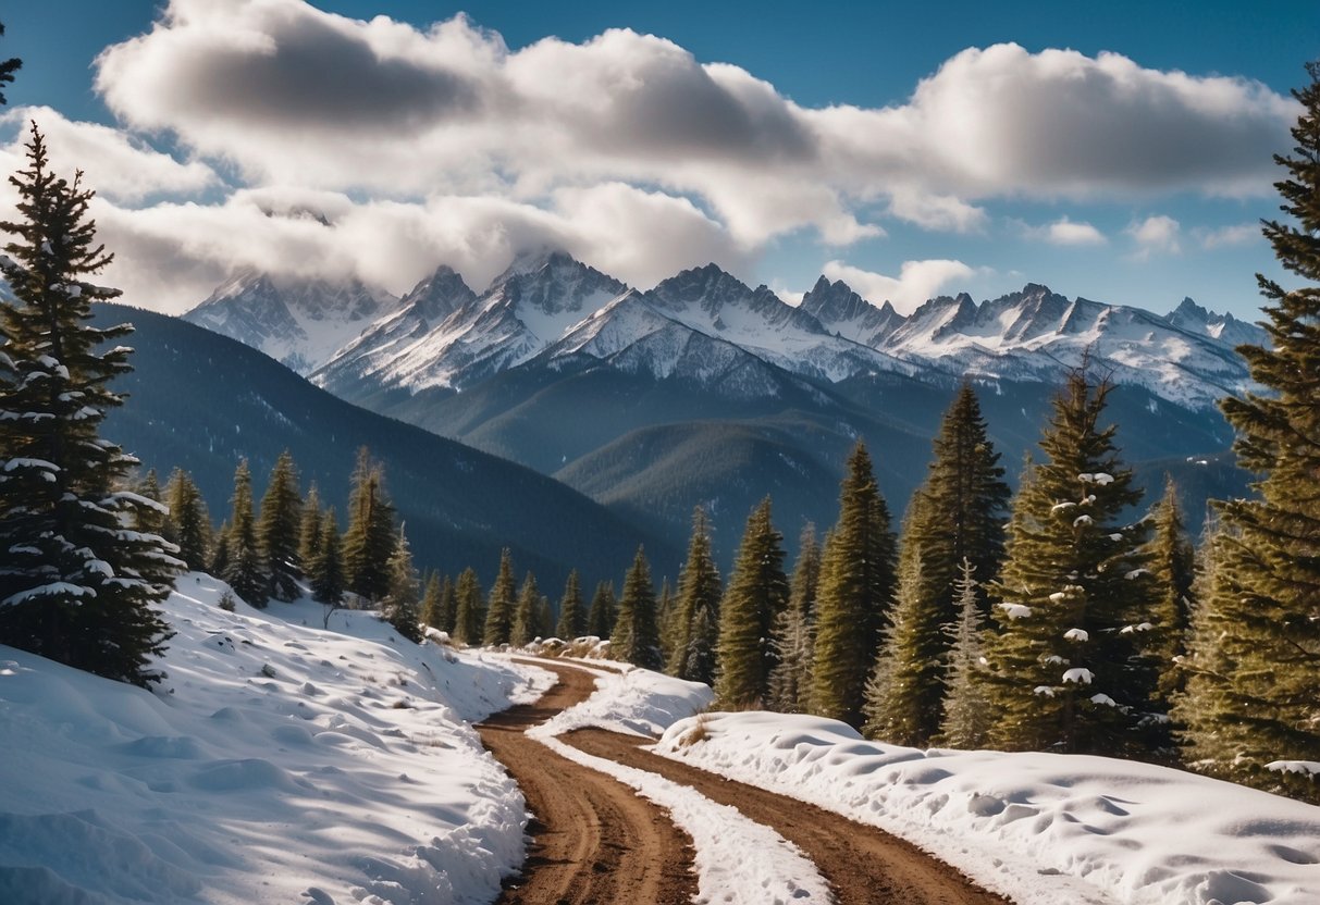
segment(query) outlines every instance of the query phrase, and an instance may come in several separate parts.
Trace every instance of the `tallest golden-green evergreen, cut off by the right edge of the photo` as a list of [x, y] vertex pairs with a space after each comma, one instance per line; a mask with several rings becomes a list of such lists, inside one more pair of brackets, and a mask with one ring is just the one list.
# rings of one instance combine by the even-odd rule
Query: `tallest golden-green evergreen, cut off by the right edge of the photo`
[[1220, 402], [1238, 464], [1261, 476], [1255, 499], [1221, 505], [1204, 604], [1222, 628], [1213, 656], [1232, 671], [1199, 695], [1209, 712], [1191, 719], [1184, 707], [1183, 719], [1212, 772], [1320, 801], [1320, 784], [1288, 769], [1320, 769], [1320, 61], [1307, 73], [1309, 84], [1292, 92], [1302, 106], [1292, 154], [1275, 156], [1288, 219], [1262, 230], [1300, 285], [1257, 274], [1270, 343], [1238, 354], [1266, 392]]

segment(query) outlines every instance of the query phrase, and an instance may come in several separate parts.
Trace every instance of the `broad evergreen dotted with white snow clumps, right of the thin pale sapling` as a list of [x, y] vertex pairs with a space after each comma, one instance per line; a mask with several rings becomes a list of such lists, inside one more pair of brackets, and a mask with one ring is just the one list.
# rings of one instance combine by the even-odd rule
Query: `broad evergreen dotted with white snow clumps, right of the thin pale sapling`
[[1122, 520], [1142, 495], [1115, 429], [1101, 427], [1109, 392], [1069, 375], [1040, 441], [1045, 460], [1014, 500], [986, 652], [999, 748], [1131, 755], [1148, 741], [1138, 728], [1155, 689], [1142, 657], [1155, 583], [1147, 524]]

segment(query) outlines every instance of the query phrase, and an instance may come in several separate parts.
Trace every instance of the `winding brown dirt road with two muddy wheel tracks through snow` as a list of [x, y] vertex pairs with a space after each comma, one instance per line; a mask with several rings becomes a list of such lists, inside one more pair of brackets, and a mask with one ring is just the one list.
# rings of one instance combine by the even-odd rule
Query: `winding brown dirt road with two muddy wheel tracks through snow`
[[[690, 901], [696, 892], [696, 879], [690, 872], [685, 877], [678, 873], [690, 869], [692, 843], [667, 818], [656, 817], [663, 811], [636, 798], [630, 789], [612, 780], [572, 764], [540, 743], [521, 736], [520, 728], [583, 699], [594, 687], [590, 674], [579, 669], [544, 662], [536, 665], [557, 673], [560, 685], [537, 704], [515, 707], [492, 718], [484, 727], [478, 727], [487, 747], [510, 765], [510, 772], [523, 786], [532, 813], [541, 825], [532, 827], [535, 844], [528, 858], [525, 885], [506, 890], [499, 901], [545, 905], [560, 901], [619, 905]], [[500, 718], [511, 722], [502, 720], [495, 726]], [[708, 798], [731, 805], [750, 819], [774, 828], [797, 844], [816, 864], [833, 887], [840, 905], [1006, 905], [1003, 898], [974, 887], [948, 864], [902, 839], [793, 798], [640, 751], [639, 745], [649, 744], [648, 739], [602, 730], [579, 730], [561, 739], [598, 757], [689, 785]], [[510, 751], [515, 759], [512, 764], [506, 757]], [[537, 801], [544, 796], [546, 785], [554, 788], [554, 794], [549, 796], [549, 806], [543, 810]], [[605, 786], [612, 786], [612, 794], [607, 794]], [[540, 792], [533, 793], [537, 789]], [[606, 813], [595, 803], [598, 798], [609, 802]], [[630, 799], [632, 806], [624, 806], [620, 798]], [[638, 830], [638, 821], [651, 831]], [[619, 823], [623, 828], [615, 828]], [[638, 851], [612, 851], [616, 861], [603, 860], [599, 852], [609, 846], [634, 844], [619, 842], [628, 838], [630, 832], [638, 839]], [[680, 842], [675, 843], [673, 839]], [[561, 846], [561, 840], [568, 844]], [[634, 855], [638, 858], [632, 858]], [[644, 864], [634, 863], [639, 859], [643, 863], [657, 859], [653, 861], [655, 871], [645, 875], [642, 871]], [[627, 880], [628, 885], [603, 885], [603, 879], [598, 876], [602, 868], [598, 865], [614, 863], [622, 865], [619, 869], [626, 876], [636, 875], [636, 879]], [[543, 879], [541, 875], [549, 876]], [[689, 885], [680, 884], [680, 880], [686, 880]], [[590, 881], [595, 881], [594, 885]], [[583, 883], [587, 885], [581, 885]], [[543, 889], [544, 893], [540, 892]], [[560, 889], [576, 893], [552, 892]], [[656, 894], [643, 892], [647, 889], [653, 889]], [[583, 893], [585, 897], [581, 897]]]

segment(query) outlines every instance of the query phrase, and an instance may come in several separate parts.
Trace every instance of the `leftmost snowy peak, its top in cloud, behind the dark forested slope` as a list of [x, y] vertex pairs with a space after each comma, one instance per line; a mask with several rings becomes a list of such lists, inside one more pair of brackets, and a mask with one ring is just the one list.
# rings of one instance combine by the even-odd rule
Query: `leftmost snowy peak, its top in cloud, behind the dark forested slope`
[[308, 375], [397, 306], [399, 299], [389, 293], [356, 280], [277, 280], [244, 269], [183, 319]]

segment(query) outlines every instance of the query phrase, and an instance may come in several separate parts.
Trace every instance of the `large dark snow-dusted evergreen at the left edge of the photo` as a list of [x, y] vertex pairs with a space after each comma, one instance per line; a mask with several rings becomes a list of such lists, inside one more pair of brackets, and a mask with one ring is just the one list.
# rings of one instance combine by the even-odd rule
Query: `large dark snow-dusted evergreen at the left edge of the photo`
[[[15, 69], [0, 63], [0, 84]], [[13, 236], [0, 256], [13, 293], [0, 301], [0, 644], [148, 685], [168, 637], [156, 604], [183, 563], [158, 534], [125, 530], [156, 505], [117, 489], [137, 459], [99, 435], [132, 350], [98, 347], [132, 327], [90, 325], [91, 303], [119, 294], [87, 281], [114, 259], [94, 244], [92, 193], [49, 170], [36, 125], [26, 149], [9, 177], [21, 219], [0, 223]]]

